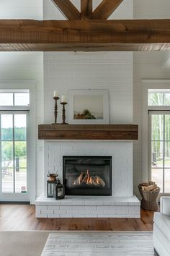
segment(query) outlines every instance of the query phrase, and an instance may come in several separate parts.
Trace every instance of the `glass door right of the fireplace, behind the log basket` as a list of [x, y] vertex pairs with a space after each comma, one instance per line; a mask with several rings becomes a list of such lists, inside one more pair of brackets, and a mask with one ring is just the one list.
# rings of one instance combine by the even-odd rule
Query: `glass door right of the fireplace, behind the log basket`
[[149, 111], [151, 180], [170, 193], [170, 111]]

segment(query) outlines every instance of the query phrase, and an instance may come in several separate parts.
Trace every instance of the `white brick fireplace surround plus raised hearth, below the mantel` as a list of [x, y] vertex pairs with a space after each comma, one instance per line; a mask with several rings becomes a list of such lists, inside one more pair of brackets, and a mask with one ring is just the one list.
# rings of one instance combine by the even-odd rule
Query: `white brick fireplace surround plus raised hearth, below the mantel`
[[[45, 141], [45, 177], [63, 177], [63, 155], [112, 156], [112, 196], [40, 196], [39, 218], [140, 218], [140, 202], [133, 196], [133, 142]], [[45, 186], [46, 187], [46, 186]]]

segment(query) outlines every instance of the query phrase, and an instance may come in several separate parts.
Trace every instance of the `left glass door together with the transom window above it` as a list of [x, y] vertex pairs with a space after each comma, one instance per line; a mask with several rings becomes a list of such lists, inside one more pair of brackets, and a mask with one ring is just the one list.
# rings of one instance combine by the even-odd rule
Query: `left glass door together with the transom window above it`
[[28, 191], [29, 110], [30, 90], [0, 90], [0, 195], [4, 198]]

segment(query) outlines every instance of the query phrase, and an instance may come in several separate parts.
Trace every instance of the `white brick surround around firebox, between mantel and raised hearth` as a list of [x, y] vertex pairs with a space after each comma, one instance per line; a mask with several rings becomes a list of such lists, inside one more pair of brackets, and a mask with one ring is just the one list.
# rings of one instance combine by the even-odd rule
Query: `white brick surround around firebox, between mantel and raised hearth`
[[133, 195], [133, 142], [45, 142], [45, 177], [48, 171], [63, 177], [63, 155], [112, 156], [112, 196]]

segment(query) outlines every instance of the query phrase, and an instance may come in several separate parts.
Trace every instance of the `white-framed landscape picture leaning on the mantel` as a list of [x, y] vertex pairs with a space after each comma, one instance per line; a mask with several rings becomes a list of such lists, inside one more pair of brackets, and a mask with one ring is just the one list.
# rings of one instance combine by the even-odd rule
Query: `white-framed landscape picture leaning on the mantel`
[[109, 124], [107, 90], [70, 90], [69, 124]]

